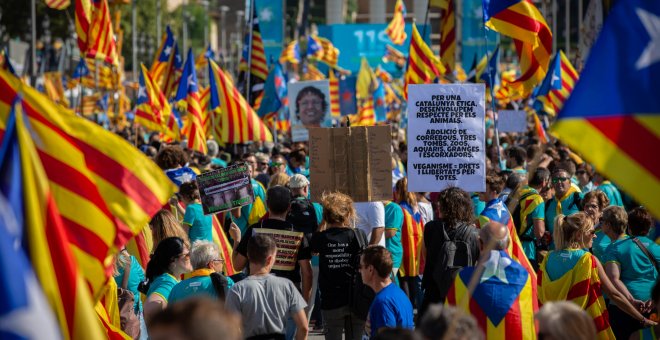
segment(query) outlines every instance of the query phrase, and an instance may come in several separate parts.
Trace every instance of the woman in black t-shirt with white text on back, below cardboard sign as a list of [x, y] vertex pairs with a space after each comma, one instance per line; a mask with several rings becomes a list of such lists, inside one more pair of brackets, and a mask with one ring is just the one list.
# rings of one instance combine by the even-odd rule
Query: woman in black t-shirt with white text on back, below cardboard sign
[[[353, 200], [342, 193], [326, 194], [321, 198], [323, 225], [312, 236], [312, 253], [319, 254], [319, 289], [323, 299], [321, 311], [327, 333], [326, 339], [360, 339], [365, 320], [351, 312], [349, 292], [353, 277], [359, 275], [354, 263], [359, 261], [367, 236], [355, 228], [356, 213]], [[361, 241], [358, 241], [357, 238]]]

